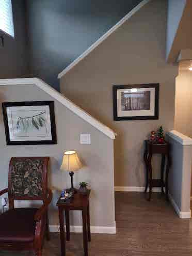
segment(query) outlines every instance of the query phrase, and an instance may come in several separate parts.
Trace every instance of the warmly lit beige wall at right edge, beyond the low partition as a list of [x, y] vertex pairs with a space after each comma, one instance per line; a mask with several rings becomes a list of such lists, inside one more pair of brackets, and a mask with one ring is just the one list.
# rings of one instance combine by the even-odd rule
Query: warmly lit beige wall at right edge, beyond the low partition
[[174, 129], [192, 137], [192, 72], [181, 69], [175, 88]]

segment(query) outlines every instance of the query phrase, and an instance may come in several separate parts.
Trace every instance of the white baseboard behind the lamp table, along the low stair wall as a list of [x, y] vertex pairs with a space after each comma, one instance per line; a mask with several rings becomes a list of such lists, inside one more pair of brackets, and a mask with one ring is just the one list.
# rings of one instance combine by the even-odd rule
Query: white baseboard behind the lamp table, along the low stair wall
[[[66, 226], [65, 226], [66, 229]], [[50, 232], [59, 232], [59, 225], [50, 225]], [[70, 226], [70, 232], [82, 233], [82, 226]], [[91, 226], [91, 233], [95, 234], [116, 234], [116, 226], [114, 227], [99, 227]]]

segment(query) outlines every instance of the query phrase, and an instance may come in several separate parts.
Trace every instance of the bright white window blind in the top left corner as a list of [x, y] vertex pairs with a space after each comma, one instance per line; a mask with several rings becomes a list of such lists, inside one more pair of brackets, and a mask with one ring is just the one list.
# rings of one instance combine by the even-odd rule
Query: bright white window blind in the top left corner
[[0, 0], [0, 30], [14, 37], [11, 0]]

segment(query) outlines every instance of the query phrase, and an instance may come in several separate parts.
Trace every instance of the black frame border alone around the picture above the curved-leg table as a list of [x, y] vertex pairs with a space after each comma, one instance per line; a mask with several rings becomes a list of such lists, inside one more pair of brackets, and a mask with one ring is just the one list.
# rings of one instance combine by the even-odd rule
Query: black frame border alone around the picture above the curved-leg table
[[[132, 88], [155, 88], [155, 101], [154, 101], [154, 116], [124, 116], [118, 117], [117, 114], [117, 92], [121, 89], [132, 89]], [[114, 85], [113, 86], [113, 108], [114, 108], [114, 121], [122, 120], [157, 120], [159, 111], [159, 84], [137, 84], [137, 85]]]

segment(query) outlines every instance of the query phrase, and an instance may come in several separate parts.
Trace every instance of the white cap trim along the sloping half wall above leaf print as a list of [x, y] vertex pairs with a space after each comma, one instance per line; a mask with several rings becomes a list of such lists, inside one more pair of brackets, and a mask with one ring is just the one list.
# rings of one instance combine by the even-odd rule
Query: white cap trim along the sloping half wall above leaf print
[[61, 93], [56, 91], [53, 87], [50, 85], [44, 83], [39, 78], [19, 78], [19, 79], [0, 79], [0, 86], [1, 85], [36, 85], [43, 91], [45, 91], [47, 94], [49, 94], [51, 97], [53, 97], [55, 100], [60, 102], [63, 106], [70, 109], [73, 113], [75, 113], [77, 116], [84, 119], [86, 122], [91, 124], [93, 127], [98, 129], [100, 132], [104, 133], [106, 136], [108, 136], [111, 139], [115, 139], [116, 134], [113, 130], [111, 130], [109, 127], [98, 121], [97, 119], [93, 118], [91, 115], [89, 115], [85, 110], [78, 107], [76, 104], [74, 104], [72, 101], [67, 99], [65, 96], [63, 96]]

